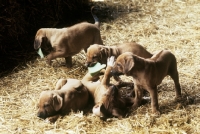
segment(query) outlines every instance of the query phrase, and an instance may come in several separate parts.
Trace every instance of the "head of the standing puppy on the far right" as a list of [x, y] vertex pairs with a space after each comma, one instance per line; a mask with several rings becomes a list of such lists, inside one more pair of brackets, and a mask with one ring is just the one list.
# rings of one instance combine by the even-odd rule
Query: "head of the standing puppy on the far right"
[[125, 52], [120, 56], [118, 56], [111, 70], [111, 73], [114, 76], [119, 76], [122, 74], [128, 75], [133, 67], [134, 67], [133, 54], [131, 52]]

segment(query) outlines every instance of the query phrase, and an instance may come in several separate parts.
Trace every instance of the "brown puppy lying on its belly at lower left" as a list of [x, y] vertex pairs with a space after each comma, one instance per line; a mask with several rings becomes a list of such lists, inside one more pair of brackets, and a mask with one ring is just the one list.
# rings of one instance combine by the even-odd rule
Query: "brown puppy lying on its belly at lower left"
[[80, 80], [59, 79], [55, 90], [41, 92], [37, 116], [42, 119], [50, 117], [49, 121], [55, 122], [59, 115], [85, 108], [88, 98], [88, 90]]

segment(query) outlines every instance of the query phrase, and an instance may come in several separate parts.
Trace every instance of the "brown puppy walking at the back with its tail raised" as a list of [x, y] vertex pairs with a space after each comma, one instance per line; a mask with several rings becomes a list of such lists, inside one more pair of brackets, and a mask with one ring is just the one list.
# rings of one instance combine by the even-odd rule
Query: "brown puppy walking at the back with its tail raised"
[[[92, 13], [92, 10], [91, 10]], [[99, 21], [92, 13], [95, 24], [83, 22], [68, 28], [41, 28], [37, 31], [34, 41], [34, 48], [39, 49], [41, 45], [51, 44], [52, 50], [47, 55], [47, 62], [55, 58], [65, 58], [66, 66], [72, 67], [72, 56], [82, 49], [87, 52], [91, 44], [103, 44]]]

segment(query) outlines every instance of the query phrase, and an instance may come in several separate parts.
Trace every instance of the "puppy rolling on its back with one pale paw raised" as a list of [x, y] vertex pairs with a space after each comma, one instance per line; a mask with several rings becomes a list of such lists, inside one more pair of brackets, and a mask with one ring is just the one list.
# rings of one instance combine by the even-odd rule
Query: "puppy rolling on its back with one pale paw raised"
[[[114, 57], [110, 59], [114, 61]], [[113, 61], [111, 63], [113, 63]], [[106, 119], [109, 116], [115, 116], [119, 119], [125, 115], [126, 108], [128, 104], [133, 104], [131, 98], [123, 98], [118, 92], [118, 87], [110, 84], [110, 71], [111, 67], [109, 65], [106, 68], [105, 74], [101, 81], [99, 81], [99, 75], [91, 76], [87, 73], [83, 79], [82, 83], [94, 99], [95, 106], [93, 107], [93, 113], [100, 116], [102, 119]], [[104, 73], [104, 71], [102, 71]], [[102, 73], [101, 72], [101, 73]], [[101, 74], [99, 73], [99, 74]], [[125, 86], [125, 85], [118, 85]]]

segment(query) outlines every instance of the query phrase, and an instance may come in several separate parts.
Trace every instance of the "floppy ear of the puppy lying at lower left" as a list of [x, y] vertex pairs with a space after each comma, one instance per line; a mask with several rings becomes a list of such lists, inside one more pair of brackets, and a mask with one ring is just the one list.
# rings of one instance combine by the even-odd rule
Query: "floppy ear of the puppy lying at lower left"
[[63, 98], [57, 94], [54, 94], [53, 95], [53, 107], [54, 107], [55, 111], [60, 110], [62, 105], [63, 105]]

